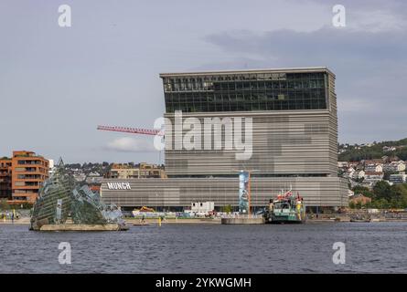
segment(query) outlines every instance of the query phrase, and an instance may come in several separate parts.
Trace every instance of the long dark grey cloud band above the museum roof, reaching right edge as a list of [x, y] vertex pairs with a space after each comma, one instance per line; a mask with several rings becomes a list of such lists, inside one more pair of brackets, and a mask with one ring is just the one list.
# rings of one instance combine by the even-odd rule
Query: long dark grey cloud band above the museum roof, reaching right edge
[[[366, 32], [325, 26], [313, 32], [290, 29], [262, 34], [230, 31], [205, 36], [205, 40], [232, 54], [280, 59], [287, 63], [319, 60], [336, 63], [339, 58], [405, 60], [406, 30]], [[346, 60], [345, 60], [346, 61]]]

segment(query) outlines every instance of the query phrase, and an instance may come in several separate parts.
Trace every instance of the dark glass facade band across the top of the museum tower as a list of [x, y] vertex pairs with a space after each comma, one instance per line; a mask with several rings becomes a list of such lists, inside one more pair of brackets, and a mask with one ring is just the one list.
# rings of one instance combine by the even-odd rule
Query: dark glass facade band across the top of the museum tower
[[326, 110], [327, 73], [164, 77], [166, 112]]

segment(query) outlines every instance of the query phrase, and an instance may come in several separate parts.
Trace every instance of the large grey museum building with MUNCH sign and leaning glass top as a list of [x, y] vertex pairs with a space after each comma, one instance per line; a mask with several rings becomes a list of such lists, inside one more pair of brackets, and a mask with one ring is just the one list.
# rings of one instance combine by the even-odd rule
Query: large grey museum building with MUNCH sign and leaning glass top
[[[347, 182], [337, 177], [337, 96], [335, 75], [329, 69], [166, 73], [160, 77], [166, 102], [167, 178], [105, 179], [101, 188], [105, 203], [174, 211], [207, 201], [214, 202], [216, 209], [229, 204], [237, 207], [239, 172], [244, 170], [251, 172], [254, 207], [264, 206], [290, 187], [310, 207], [348, 205]], [[194, 132], [194, 148], [182, 141], [197, 127], [177, 127], [177, 122], [191, 118], [194, 125], [202, 125]], [[228, 127], [233, 129], [231, 134]], [[208, 134], [204, 129], [219, 131]], [[220, 134], [217, 138], [216, 133]], [[242, 145], [244, 149], [237, 147]]]

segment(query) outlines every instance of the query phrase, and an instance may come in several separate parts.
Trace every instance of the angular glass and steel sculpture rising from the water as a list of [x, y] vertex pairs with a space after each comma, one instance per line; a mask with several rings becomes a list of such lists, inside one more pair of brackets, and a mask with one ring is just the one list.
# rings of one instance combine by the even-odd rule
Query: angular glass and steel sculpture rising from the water
[[117, 206], [102, 203], [99, 193], [91, 192], [85, 183], [76, 183], [59, 160], [55, 172], [39, 191], [30, 229], [65, 224], [69, 216], [74, 224], [125, 224]]

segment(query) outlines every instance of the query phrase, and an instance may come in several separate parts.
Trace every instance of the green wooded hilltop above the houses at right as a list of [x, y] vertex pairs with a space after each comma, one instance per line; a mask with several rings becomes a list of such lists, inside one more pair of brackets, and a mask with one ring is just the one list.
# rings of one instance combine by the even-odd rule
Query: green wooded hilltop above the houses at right
[[382, 141], [369, 144], [340, 144], [338, 147], [339, 162], [359, 162], [381, 158], [383, 156], [394, 157], [407, 160], [407, 138], [399, 141]]

